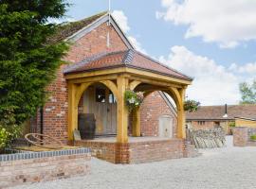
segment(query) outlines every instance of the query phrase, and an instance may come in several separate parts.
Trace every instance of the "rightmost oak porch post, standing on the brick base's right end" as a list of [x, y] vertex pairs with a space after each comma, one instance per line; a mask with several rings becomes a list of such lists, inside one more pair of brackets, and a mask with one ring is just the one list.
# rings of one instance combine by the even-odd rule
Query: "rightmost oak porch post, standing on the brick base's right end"
[[184, 98], [185, 89], [179, 89], [178, 97], [179, 102], [177, 104], [177, 137], [185, 139], [186, 138], [186, 126], [185, 126], [185, 111], [184, 111]]

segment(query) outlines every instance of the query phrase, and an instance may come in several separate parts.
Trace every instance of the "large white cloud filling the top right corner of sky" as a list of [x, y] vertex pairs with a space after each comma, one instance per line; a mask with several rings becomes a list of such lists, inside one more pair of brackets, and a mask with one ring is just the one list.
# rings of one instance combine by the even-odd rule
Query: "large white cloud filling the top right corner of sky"
[[163, 12], [156, 18], [189, 26], [185, 37], [203, 37], [205, 42], [231, 48], [256, 39], [256, 1], [252, 0], [162, 0]]

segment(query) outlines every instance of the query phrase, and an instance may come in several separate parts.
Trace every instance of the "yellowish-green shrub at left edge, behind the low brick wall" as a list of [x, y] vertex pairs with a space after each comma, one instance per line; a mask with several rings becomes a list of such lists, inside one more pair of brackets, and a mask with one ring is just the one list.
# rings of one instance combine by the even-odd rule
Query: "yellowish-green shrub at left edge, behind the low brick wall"
[[0, 153], [9, 147], [11, 142], [21, 134], [22, 128], [16, 125], [15, 122], [12, 111], [7, 112], [0, 120]]

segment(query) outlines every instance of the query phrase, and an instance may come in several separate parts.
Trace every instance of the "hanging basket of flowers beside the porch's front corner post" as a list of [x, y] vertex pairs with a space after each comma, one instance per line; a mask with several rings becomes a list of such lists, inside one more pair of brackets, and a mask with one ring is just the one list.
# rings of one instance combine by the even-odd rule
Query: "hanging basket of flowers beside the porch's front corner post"
[[142, 92], [134, 92], [128, 90], [124, 94], [125, 104], [128, 107], [129, 112], [139, 108], [140, 104], [143, 102], [144, 95]]

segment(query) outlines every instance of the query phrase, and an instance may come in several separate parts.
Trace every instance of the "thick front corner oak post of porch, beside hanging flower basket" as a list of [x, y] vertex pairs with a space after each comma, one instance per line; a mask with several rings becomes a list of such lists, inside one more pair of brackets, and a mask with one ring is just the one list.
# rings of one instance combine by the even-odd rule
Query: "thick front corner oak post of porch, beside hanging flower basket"
[[127, 143], [128, 142], [128, 110], [124, 101], [124, 93], [127, 88], [127, 78], [118, 77], [118, 143]]

